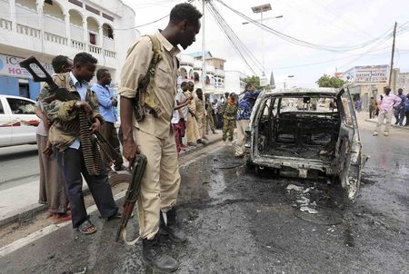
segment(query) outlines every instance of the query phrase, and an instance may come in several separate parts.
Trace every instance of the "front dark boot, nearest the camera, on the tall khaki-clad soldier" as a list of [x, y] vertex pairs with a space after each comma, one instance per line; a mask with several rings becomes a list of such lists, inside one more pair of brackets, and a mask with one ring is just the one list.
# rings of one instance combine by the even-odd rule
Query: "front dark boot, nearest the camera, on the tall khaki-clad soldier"
[[179, 262], [164, 254], [159, 245], [159, 233], [152, 240], [142, 239], [143, 260], [147, 267], [164, 272], [173, 272], [179, 268]]

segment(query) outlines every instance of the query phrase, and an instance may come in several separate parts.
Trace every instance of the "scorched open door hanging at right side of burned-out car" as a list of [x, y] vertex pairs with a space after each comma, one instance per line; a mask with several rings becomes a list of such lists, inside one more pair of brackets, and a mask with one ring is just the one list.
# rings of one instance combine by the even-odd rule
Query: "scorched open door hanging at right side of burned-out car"
[[362, 153], [354, 104], [347, 87], [340, 90], [337, 95], [337, 102], [339, 112], [342, 115], [337, 145], [339, 179], [348, 199], [354, 201], [358, 195], [366, 156]]

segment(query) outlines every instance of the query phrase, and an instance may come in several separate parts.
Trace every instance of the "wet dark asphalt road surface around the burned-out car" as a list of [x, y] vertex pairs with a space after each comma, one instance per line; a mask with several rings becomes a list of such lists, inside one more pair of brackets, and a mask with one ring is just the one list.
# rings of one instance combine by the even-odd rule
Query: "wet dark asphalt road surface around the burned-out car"
[[[246, 172], [232, 147], [193, 155], [178, 202], [188, 242], [164, 240], [176, 273], [408, 273], [408, 134], [361, 136], [371, 159], [354, 205], [326, 181]], [[118, 221], [96, 214], [94, 235], [66, 226], [0, 258], [0, 273], [145, 273], [141, 244], [115, 243]]]

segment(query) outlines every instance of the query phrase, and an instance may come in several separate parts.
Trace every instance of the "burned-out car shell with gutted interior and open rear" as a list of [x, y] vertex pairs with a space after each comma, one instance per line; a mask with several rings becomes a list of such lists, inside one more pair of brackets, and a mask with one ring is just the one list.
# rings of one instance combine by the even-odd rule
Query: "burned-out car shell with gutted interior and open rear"
[[346, 86], [263, 92], [246, 132], [249, 167], [339, 181], [348, 198], [356, 198], [366, 157]]

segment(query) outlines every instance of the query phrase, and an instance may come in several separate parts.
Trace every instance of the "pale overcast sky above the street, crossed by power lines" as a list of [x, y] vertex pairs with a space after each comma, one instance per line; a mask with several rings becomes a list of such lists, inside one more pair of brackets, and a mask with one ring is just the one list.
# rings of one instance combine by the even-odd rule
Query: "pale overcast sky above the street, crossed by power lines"
[[[233, 29], [244, 45], [263, 63], [267, 75], [274, 73], [277, 87], [314, 87], [315, 81], [324, 73], [334, 75], [353, 66], [390, 64], [392, 53], [392, 32], [397, 22], [394, 68], [409, 73], [409, 10], [408, 0], [222, 0], [240, 13], [260, 20], [251, 7], [270, 4], [272, 10], [264, 12], [264, 24], [274, 30], [290, 35], [310, 44], [321, 46], [310, 48], [292, 44], [275, 34], [263, 31], [246, 21], [230, 9], [212, 0], [226, 23]], [[185, 1], [177, 0], [123, 0], [135, 10], [135, 25], [140, 34], [151, 34], [158, 28], [165, 28], [168, 17], [148, 24], [170, 13], [172, 7]], [[194, 5], [202, 11], [202, 2]], [[282, 18], [268, 19], [280, 16]], [[202, 35], [197, 34], [195, 44], [184, 53], [202, 51]], [[263, 38], [263, 39], [262, 39]], [[262, 40], [264, 43], [262, 43]], [[264, 44], [264, 46], [262, 46]], [[364, 46], [363, 46], [364, 44]], [[324, 47], [322, 46], [324, 45]], [[352, 46], [353, 51], [345, 51]], [[328, 47], [341, 47], [342, 52], [326, 51]], [[347, 48], [348, 47], [348, 48]], [[238, 70], [247, 75], [254, 73], [244, 64], [240, 55], [215, 23], [213, 16], [205, 9], [205, 50], [214, 57], [226, 60], [224, 70]], [[255, 69], [253, 69], [256, 71]], [[260, 72], [255, 72], [260, 74]], [[290, 76], [290, 77], [289, 77]]]

